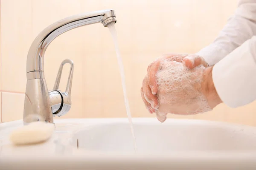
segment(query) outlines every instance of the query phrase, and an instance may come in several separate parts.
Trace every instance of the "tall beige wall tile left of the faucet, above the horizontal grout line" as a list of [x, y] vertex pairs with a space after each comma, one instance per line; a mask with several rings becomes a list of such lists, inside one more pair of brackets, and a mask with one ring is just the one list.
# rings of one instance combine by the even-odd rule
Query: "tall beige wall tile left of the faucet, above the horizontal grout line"
[[26, 58], [32, 43], [31, 0], [1, 1], [2, 90], [24, 92]]

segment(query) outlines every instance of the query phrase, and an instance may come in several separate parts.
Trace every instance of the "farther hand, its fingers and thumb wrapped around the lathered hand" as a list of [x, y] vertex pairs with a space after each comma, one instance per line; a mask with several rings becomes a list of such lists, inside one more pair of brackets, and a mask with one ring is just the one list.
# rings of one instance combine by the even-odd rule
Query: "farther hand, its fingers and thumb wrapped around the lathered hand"
[[208, 66], [207, 62], [198, 55], [188, 54], [165, 54], [152, 62], [148, 66], [148, 73], [143, 80], [143, 86], [141, 87], [141, 97], [145, 103], [146, 108], [150, 113], [154, 113], [158, 109], [157, 102], [157, 82], [155, 75], [157, 74], [158, 66], [160, 61], [163, 59], [171, 59], [176, 62], [183, 62], [183, 65], [187, 68], [194, 68], [198, 65]]

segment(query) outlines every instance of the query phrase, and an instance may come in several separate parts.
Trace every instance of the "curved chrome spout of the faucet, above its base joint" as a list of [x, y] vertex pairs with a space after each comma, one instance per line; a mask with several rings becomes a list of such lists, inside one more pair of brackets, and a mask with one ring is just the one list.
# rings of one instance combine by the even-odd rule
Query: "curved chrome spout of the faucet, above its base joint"
[[32, 42], [27, 57], [27, 73], [32, 71], [44, 71], [44, 53], [48, 45], [66, 31], [93, 23], [102, 23], [107, 27], [109, 23], [116, 23], [116, 15], [113, 10], [94, 11], [79, 14], [59, 20], [45, 28]]

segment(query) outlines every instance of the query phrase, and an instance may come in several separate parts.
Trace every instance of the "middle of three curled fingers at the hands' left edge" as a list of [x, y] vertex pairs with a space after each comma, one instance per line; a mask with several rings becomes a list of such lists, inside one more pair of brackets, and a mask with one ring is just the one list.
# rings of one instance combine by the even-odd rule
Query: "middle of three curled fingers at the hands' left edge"
[[143, 93], [146, 101], [151, 104], [154, 109], [158, 108], [157, 96], [153, 95], [148, 85], [148, 78], [145, 77], [143, 80]]

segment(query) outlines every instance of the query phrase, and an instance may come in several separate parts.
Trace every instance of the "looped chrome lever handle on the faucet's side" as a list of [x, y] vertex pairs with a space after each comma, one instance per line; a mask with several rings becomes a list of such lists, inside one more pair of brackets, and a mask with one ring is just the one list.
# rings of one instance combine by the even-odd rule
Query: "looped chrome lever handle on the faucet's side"
[[55, 80], [53, 90], [58, 90], [58, 88], [59, 88], [63, 66], [66, 63], [70, 63], [70, 73], [69, 73], [69, 76], [68, 76], [68, 79], [67, 79], [67, 87], [66, 87], [65, 92], [68, 96], [70, 96], [71, 88], [72, 88], [73, 71], [74, 71], [74, 62], [71, 59], [65, 59], [63, 62], [61, 62], [61, 66], [58, 70], [58, 74], [57, 74], [57, 77], [56, 77], [56, 80]]

